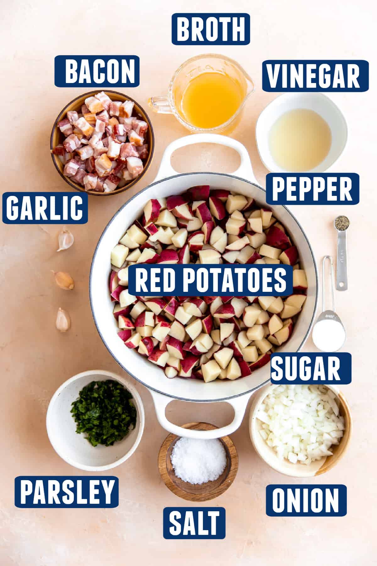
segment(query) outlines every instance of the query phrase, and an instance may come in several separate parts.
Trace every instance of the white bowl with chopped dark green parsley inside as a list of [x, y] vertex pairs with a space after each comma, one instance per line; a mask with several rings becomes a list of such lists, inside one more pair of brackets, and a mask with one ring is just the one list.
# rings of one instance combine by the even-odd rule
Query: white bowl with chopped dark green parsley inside
[[144, 406], [135, 387], [110, 371], [91, 370], [68, 379], [51, 398], [47, 434], [71, 466], [102, 471], [135, 452], [144, 431]]

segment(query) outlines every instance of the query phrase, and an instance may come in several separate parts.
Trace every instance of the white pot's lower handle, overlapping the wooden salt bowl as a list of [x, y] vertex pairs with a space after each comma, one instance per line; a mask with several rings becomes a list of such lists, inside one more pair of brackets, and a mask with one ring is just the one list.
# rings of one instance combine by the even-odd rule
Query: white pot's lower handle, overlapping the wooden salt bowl
[[161, 395], [157, 391], [149, 390], [154, 402], [154, 408], [156, 411], [158, 422], [161, 426], [168, 432], [172, 432], [177, 436], [185, 436], [187, 438], [196, 438], [201, 440], [208, 440], [211, 438], [220, 438], [222, 436], [227, 436], [235, 432], [239, 428], [242, 419], [244, 418], [246, 406], [248, 404], [249, 398], [252, 393], [245, 393], [240, 397], [235, 397], [233, 399], [227, 399], [226, 402], [232, 405], [235, 416], [233, 421], [226, 426], [221, 428], [215, 428], [214, 430], [191, 430], [189, 428], [183, 428], [177, 424], [173, 424], [166, 418], [165, 409], [167, 405], [173, 401], [172, 397], [167, 397], [166, 395]]

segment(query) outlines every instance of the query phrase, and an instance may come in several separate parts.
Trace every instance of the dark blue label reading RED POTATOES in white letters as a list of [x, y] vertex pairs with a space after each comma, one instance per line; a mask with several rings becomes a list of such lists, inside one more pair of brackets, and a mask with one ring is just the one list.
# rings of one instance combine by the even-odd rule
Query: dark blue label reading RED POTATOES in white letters
[[142, 297], [247, 297], [292, 294], [292, 265], [139, 264], [128, 268], [128, 292]]

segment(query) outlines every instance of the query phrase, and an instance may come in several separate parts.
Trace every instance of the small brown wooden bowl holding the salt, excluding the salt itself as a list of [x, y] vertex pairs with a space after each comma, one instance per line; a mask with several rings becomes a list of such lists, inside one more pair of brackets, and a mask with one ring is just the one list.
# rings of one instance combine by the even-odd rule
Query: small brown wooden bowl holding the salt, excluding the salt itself
[[[214, 430], [218, 428], [209, 423], [188, 423], [182, 426], [194, 430]], [[171, 453], [179, 438], [175, 434], [169, 434], [163, 441], [158, 453], [158, 469], [166, 487], [175, 495], [187, 501], [209, 501], [222, 495], [233, 483], [238, 470], [237, 450], [229, 436], [218, 439], [226, 454], [226, 466], [223, 473], [214, 481], [205, 483], [189, 483], [176, 476], [171, 463]]]

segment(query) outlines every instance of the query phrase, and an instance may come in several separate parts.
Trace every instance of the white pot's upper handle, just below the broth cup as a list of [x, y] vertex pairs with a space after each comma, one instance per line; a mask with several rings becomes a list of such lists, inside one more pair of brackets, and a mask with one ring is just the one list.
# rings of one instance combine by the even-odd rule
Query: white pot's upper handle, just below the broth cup
[[184, 136], [184, 138], [179, 138], [172, 141], [163, 153], [157, 177], [154, 180], [159, 181], [160, 179], [171, 177], [172, 175], [177, 175], [177, 171], [175, 171], [171, 166], [170, 160], [172, 153], [174, 153], [175, 150], [179, 149], [180, 147], [185, 147], [185, 145], [193, 145], [196, 143], [216, 143], [235, 149], [241, 158], [241, 163], [239, 168], [234, 171], [232, 175], [235, 175], [236, 177], [242, 177], [243, 179], [247, 179], [248, 181], [251, 181], [258, 185], [257, 179], [255, 179], [253, 173], [248, 150], [244, 145], [240, 143], [240, 141], [237, 141], [233, 138], [228, 138], [228, 136], [222, 136], [220, 134], [192, 134], [190, 136]]

